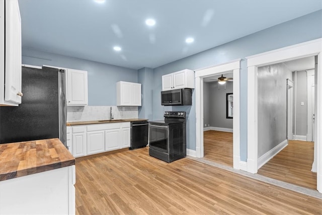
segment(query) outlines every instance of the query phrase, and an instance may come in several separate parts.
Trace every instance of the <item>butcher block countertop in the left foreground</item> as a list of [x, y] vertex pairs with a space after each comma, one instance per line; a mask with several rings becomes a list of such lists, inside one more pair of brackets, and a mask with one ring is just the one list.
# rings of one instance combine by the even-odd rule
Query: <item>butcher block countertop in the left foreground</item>
[[58, 138], [0, 144], [0, 181], [75, 165]]

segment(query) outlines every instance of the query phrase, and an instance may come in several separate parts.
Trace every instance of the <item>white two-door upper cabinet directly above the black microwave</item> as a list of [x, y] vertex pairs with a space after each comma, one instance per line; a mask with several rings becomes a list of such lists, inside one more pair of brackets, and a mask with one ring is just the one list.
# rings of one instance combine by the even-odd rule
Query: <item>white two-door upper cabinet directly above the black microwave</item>
[[195, 88], [195, 73], [193, 70], [184, 69], [162, 76], [162, 91], [181, 88]]

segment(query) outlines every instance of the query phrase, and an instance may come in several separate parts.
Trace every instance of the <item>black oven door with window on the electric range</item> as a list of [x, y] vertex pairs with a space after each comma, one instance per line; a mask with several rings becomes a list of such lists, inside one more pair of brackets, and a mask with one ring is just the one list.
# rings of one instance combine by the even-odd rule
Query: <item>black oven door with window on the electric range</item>
[[149, 147], [169, 153], [169, 126], [149, 124]]

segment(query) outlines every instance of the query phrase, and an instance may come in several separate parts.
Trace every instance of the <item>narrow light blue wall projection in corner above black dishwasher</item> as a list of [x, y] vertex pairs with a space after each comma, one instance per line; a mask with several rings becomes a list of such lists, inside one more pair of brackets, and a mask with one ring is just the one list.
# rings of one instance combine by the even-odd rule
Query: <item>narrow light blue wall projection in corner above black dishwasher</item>
[[[138, 107], [138, 117], [153, 119], [153, 69], [141, 68], [137, 71], [137, 81], [142, 84], [142, 106]], [[144, 84], [143, 84], [144, 83]]]

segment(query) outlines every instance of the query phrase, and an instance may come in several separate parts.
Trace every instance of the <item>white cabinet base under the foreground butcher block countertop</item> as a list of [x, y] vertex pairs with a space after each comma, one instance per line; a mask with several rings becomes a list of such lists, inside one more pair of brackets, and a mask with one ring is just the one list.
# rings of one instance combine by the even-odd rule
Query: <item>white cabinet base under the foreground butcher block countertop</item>
[[75, 214], [75, 166], [0, 181], [0, 214]]

